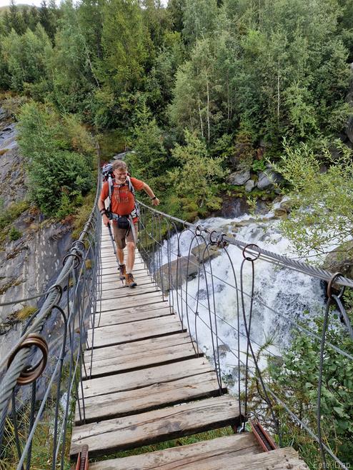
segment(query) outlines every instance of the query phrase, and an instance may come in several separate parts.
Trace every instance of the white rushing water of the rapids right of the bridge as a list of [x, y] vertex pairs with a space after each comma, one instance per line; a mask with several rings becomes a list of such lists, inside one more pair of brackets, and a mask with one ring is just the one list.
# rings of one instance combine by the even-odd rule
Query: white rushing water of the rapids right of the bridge
[[[242, 227], [237, 228], [234, 233], [234, 226], [247, 221], [250, 217], [244, 215], [237, 219], [212, 218], [198, 222], [205, 228], [216, 229], [224, 233], [232, 233], [237, 239], [248, 243], [256, 243], [260, 248], [266, 248], [277, 254], [287, 256], [296, 256], [289, 240], [279, 233], [279, 221], [273, 219], [270, 212], [264, 216], [261, 222], [249, 221]], [[190, 242], [193, 234], [191, 231], [184, 231], [179, 237], [179, 251], [182, 256], [189, 254]], [[171, 261], [177, 259], [178, 238], [174, 236], [170, 240]], [[192, 246], [197, 246], [197, 241], [192, 242]], [[234, 288], [234, 271], [237, 276], [238, 288], [240, 287], [240, 266], [243, 261], [242, 250], [237, 246], [228, 246], [226, 253], [222, 252], [220, 256], [213, 259], [212, 278], [204, 275], [204, 268], [200, 268], [200, 276], [189, 279], [182, 286], [183, 297], [187, 290], [188, 306], [181, 296], [173, 291], [174, 309], [179, 306], [179, 313], [182, 312], [184, 321], [187, 323], [186, 312], [189, 313], [189, 329], [192, 336], [196, 336], [199, 346], [204, 349], [208, 356], [212, 357], [212, 338], [209, 333], [209, 309], [208, 302], [212, 311], [216, 311], [219, 319], [217, 320], [218, 336], [221, 339], [219, 348], [221, 351], [222, 374], [232, 376], [235, 379], [237, 371], [237, 296], [240, 297], [239, 290]], [[161, 249], [162, 264], [167, 262], [167, 246]], [[229, 261], [229, 258], [232, 260]], [[249, 307], [249, 296], [252, 289], [251, 264], [244, 264], [243, 289], [244, 304], [246, 310]], [[314, 316], [322, 311], [324, 305], [324, 291], [318, 279], [311, 278], [306, 274], [292, 271], [290, 269], [280, 269], [267, 261], [258, 259], [254, 262], [254, 306], [252, 314], [251, 337], [255, 349], [264, 344], [269, 336], [272, 336], [273, 346], [267, 348], [272, 354], [278, 354], [290, 339], [291, 321], [297, 321], [305, 316]], [[205, 269], [209, 273], [210, 262], [205, 264]], [[229, 285], [231, 284], [231, 285]], [[212, 287], [214, 289], [214, 298], [212, 296]], [[209, 295], [208, 295], [209, 293]], [[199, 304], [197, 305], [197, 298]], [[197, 329], [195, 328], [194, 311], [197, 306], [199, 319], [197, 320]], [[215, 308], [214, 308], [215, 307]], [[244, 352], [246, 349], [245, 329], [242, 321], [242, 309], [240, 309], [240, 351], [242, 361], [244, 362]], [[222, 344], [223, 343], [223, 344]]]

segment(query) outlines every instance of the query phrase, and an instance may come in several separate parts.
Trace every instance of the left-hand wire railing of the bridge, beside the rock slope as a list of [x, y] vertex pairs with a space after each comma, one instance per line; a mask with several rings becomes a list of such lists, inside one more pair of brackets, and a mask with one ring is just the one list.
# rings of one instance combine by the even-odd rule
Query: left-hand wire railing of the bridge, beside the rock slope
[[[94, 208], [55, 284], [36, 296], [41, 307], [0, 360], [1, 469], [63, 470], [69, 465], [67, 434], [86, 376], [86, 330], [99, 301], [100, 186], [99, 175]], [[84, 421], [84, 399], [78, 413]]]

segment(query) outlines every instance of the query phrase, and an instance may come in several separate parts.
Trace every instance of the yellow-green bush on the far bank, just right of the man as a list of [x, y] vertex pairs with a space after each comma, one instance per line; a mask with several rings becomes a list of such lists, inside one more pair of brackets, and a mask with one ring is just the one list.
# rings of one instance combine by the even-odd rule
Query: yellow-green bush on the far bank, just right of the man
[[179, 166], [168, 173], [173, 188], [170, 203], [177, 214], [195, 219], [219, 209], [222, 199], [217, 196], [217, 181], [225, 172], [222, 159], [209, 157], [206, 144], [195, 134], [186, 131], [185, 141], [185, 146], [177, 145], [172, 151]]

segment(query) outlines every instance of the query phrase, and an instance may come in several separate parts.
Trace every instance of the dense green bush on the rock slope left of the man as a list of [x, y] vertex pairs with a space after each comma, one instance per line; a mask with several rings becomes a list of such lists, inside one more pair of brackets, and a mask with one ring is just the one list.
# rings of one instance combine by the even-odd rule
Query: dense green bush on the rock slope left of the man
[[72, 151], [67, 124], [50, 106], [25, 104], [19, 129], [32, 199], [46, 215], [69, 214], [92, 186], [91, 154]]

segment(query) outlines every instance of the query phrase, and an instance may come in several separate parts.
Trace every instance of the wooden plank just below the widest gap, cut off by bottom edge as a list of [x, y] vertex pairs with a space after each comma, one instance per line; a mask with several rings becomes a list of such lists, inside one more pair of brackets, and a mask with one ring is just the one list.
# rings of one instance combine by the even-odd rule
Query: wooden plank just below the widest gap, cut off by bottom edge
[[[122, 459], [105, 460], [89, 464], [89, 470], [179, 470], [179, 469], [234, 469], [236, 462], [242, 462], [240, 456], [261, 454], [262, 449], [257, 444], [252, 433], [234, 434], [219, 437], [210, 441], [197, 442], [188, 446], [177, 446], [164, 451], [149, 452]], [[218, 460], [227, 464], [214, 466]], [[209, 465], [212, 464], [212, 467]], [[260, 470], [266, 467], [258, 467]]]

